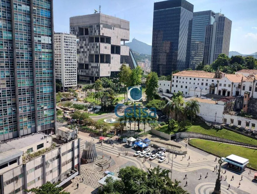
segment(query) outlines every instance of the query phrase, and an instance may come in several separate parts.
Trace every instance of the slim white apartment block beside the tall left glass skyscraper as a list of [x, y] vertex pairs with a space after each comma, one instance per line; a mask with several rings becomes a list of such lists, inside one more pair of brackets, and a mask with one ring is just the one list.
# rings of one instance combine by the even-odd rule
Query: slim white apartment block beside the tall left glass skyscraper
[[64, 89], [77, 86], [76, 36], [66, 33], [54, 34], [55, 78], [61, 80]]

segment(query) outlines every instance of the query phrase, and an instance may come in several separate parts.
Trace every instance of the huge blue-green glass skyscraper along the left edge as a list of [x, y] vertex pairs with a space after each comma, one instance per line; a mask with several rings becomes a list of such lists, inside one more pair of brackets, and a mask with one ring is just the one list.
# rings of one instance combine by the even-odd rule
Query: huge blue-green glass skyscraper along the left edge
[[51, 0], [0, 0], [0, 141], [55, 129]]

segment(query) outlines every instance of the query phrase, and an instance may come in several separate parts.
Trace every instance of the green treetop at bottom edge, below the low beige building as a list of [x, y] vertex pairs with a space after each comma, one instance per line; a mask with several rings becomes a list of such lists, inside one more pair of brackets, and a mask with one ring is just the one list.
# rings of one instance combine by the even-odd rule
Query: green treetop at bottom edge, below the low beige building
[[47, 181], [46, 184], [43, 184], [40, 187], [32, 188], [32, 189], [25, 189], [25, 192], [28, 193], [35, 193], [35, 194], [70, 194], [70, 192], [62, 191], [62, 187], [56, 187], [58, 183], [52, 184], [51, 182]]

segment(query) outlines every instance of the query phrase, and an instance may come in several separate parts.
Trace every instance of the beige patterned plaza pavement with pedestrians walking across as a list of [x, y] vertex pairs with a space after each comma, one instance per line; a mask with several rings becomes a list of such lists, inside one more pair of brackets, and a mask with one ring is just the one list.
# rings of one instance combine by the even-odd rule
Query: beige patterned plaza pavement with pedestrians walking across
[[[92, 138], [91, 134], [89, 133], [79, 132], [79, 138], [81, 138], [81, 147], [83, 147], [85, 141], [94, 141], [98, 153], [98, 160], [101, 160], [102, 147], [101, 143], [98, 142], [98, 137]], [[104, 159], [108, 160], [108, 163], [103, 167], [103, 170], [100, 166], [95, 165], [98, 160], [93, 163], [82, 164], [81, 174], [79, 176], [76, 176], [76, 178], [73, 179], [71, 182], [63, 185], [63, 190], [68, 191], [71, 194], [97, 193], [97, 188], [100, 186], [100, 184], [98, 184], [98, 181], [104, 177], [105, 170], [114, 172], [114, 176], [118, 176], [119, 169], [124, 168], [125, 166], [134, 165], [138, 168], [143, 169], [144, 171], [147, 171], [148, 168], [154, 168], [159, 165], [161, 168], [171, 170], [172, 153], [166, 152], [166, 161], [164, 161], [163, 163], [158, 163], [157, 159], [152, 161], [146, 159], [146, 162], [143, 163], [144, 157], [134, 157], [133, 155], [137, 150], [135, 148], [127, 148], [125, 143], [115, 141], [116, 136], [114, 136], [113, 138], [105, 138], [105, 140], [113, 140], [114, 148], [108, 143], [103, 143], [103, 156]], [[178, 143], [185, 146], [187, 141], [182, 140]], [[165, 145], [163, 146], [165, 147]], [[154, 148], [150, 149], [152, 151]], [[184, 190], [187, 190], [191, 194], [206, 194], [213, 192], [215, 182], [218, 176], [218, 173], [217, 171], [214, 171], [214, 168], [216, 167], [216, 165], [219, 166], [219, 158], [217, 158], [217, 160], [215, 161], [215, 156], [207, 154], [206, 152], [203, 152], [189, 145], [187, 145], [186, 149], [186, 157], [183, 157], [184, 155], [177, 155], [177, 157], [175, 157], [175, 154], [173, 155], [172, 180], [174, 181], [176, 179], [178, 181], [181, 181], [181, 187], [183, 187]], [[128, 152], [128, 155], [125, 155], [125, 152]], [[119, 153], [120, 156], [118, 156]], [[110, 156], [111, 159], [109, 159]], [[109, 163], [110, 167], [108, 168]], [[256, 171], [251, 170], [250, 172], [250, 170], [246, 168], [245, 171], [240, 173], [236, 171], [229, 171], [228, 169], [224, 168], [225, 166], [226, 164], [224, 163], [221, 165], [221, 193], [256, 193], [257, 183], [253, 179]], [[206, 176], [207, 173], [208, 176]], [[186, 179], [185, 175], [187, 175]], [[234, 176], [234, 180], [232, 180], [232, 176]], [[241, 176], [243, 176], [242, 180]], [[225, 177], [227, 177], [226, 180]], [[82, 178], [84, 179], [83, 182]], [[187, 186], [185, 186], [186, 181]], [[78, 189], [76, 186], [77, 183], [79, 183]], [[240, 187], [238, 187], [239, 183], [241, 184]], [[230, 189], [228, 189], [229, 184]]]

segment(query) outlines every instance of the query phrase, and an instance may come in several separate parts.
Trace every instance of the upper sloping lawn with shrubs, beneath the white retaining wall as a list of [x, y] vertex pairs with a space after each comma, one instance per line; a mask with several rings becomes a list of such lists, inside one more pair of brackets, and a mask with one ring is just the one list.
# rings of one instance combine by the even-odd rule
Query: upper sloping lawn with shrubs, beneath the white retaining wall
[[[163, 125], [161, 127], [157, 127], [156, 130], [159, 130], [159, 131], [161, 131], [163, 133], [167, 133], [167, 134], [174, 134], [174, 133], [182, 132], [177, 129], [174, 131], [169, 131], [168, 125]], [[191, 127], [183, 130], [183, 132], [185, 132], [185, 131], [202, 133], [205, 135], [212, 135], [212, 136], [216, 136], [216, 137], [220, 137], [220, 138], [224, 138], [224, 139], [230, 139], [230, 140], [239, 141], [242, 143], [257, 145], [256, 139], [249, 138], [245, 135], [241, 135], [241, 134], [238, 134], [233, 131], [226, 130], [226, 129], [220, 130], [220, 129], [210, 128], [205, 124], [192, 125]]]

